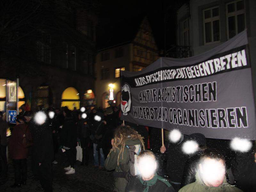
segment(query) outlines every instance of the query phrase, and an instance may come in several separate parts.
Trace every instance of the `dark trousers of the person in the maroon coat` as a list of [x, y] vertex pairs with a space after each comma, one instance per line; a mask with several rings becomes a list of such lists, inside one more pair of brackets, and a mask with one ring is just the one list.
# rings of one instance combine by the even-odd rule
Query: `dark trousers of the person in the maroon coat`
[[20, 184], [20, 181], [27, 180], [27, 159], [12, 159], [14, 167], [15, 184]]

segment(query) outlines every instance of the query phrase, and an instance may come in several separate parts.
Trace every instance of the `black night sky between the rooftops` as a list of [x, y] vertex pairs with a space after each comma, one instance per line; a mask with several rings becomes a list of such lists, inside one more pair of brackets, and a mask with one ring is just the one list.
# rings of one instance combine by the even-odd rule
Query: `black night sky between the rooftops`
[[[186, 0], [161, 1], [100, 1], [98, 4], [99, 31], [113, 27], [122, 20], [147, 16], [159, 51], [164, 50], [164, 20], [166, 20], [166, 48], [175, 44], [175, 10]], [[164, 19], [166, 18], [166, 19]], [[96, 40], [97, 41], [97, 40]]]

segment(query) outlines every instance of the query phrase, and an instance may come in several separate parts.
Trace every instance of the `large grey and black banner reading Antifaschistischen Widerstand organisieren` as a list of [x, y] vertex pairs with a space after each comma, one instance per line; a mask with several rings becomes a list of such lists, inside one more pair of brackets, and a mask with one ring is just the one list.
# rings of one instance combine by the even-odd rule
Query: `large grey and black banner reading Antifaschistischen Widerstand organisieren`
[[246, 32], [186, 58], [160, 58], [121, 72], [121, 119], [208, 138], [256, 139]]

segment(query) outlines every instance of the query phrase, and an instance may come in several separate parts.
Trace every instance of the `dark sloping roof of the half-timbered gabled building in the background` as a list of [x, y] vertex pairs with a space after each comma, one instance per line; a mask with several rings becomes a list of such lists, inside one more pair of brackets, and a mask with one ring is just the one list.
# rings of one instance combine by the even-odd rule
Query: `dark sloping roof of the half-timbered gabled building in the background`
[[97, 50], [131, 43], [139, 31], [143, 19], [142, 16], [125, 19], [119, 23], [113, 23], [107, 29], [98, 31], [98, 36], [96, 36]]

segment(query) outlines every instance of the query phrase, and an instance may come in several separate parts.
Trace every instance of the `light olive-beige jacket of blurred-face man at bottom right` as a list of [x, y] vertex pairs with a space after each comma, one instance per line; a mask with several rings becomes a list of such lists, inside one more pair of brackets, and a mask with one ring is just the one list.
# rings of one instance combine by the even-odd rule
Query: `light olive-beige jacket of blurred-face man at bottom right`
[[219, 187], [208, 187], [204, 184], [199, 176], [199, 172], [196, 173], [196, 182], [190, 183], [179, 190], [179, 192], [243, 192], [241, 189], [230, 185], [226, 177], [223, 183]]

